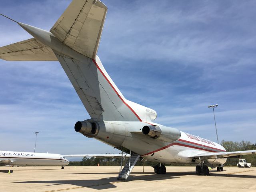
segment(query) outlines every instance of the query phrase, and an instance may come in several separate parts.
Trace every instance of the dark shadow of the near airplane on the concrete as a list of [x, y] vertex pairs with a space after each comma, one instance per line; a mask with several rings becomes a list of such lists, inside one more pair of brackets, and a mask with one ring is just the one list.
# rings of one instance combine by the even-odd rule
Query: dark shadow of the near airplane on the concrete
[[[215, 172], [215, 171], [214, 171]], [[254, 175], [234, 175], [234, 174], [222, 174], [222, 173], [214, 173], [210, 172], [210, 176], [217, 176], [217, 177], [234, 177], [234, 178], [254, 178], [256, 179], [256, 176]], [[75, 173], [74, 173], [75, 174]], [[80, 187], [86, 187], [86, 188], [93, 188], [97, 190], [101, 189], [109, 189], [109, 188], [116, 188], [115, 183], [122, 182], [120, 180], [117, 180], [117, 174], [116, 173], [78, 173], [78, 174], [115, 174], [114, 177], [108, 177], [108, 178], [98, 178], [98, 179], [88, 179], [88, 180], [52, 180], [52, 181], [24, 181], [24, 182], [16, 182], [16, 183], [33, 183], [33, 184], [46, 184], [46, 186], [49, 185], [62, 185], [62, 184], [69, 184], [74, 186]], [[149, 181], [156, 181], [156, 180], [168, 180], [168, 179], [174, 179], [174, 178], [180, 178], [180, 176], [186, 176], [186, 175], [193, 175], [197, 179], [200, 176], [195, 175], [194, 172], [171, 172], [166, 173], [164, 175], [161, 174], [153, 174], [152, 172], [133, 172], [133, 174], [147, 174], [147, 175], [139, 175], [139, 176], [133, 176], [130, 175], [128, 180], [124, 182], [134, 181], [134, 180], [149, 180]], [[148, 175], [151, 174], [151, 175]], [[201, 176], [204, 177], [204, 176]]]

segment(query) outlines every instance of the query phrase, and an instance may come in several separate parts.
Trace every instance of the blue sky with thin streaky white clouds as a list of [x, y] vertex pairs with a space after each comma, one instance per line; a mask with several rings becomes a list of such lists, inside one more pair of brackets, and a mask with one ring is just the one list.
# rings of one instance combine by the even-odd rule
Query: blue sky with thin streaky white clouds
[[[0, 0], [0, 12], [50, 30], [70, 0]], [[256, 143], [255, 1], [105, 0], [98, 50], [124, 96], [158, 113], [156, 122], [216, 141]], [[31, 36], [0, 17], [0, 46]], [[89, 118], [58, 62], [0, 60], [1, 150], [59, 154], [115, 152], [74, 131]]]

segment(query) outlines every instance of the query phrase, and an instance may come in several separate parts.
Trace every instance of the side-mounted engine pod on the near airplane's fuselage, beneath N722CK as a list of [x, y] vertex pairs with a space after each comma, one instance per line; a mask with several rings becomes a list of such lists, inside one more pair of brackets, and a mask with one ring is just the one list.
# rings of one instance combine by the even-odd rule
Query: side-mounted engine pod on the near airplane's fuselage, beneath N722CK
[[180, 138], [178, 129], [166, 126], [146, 125], [142, 128], [142, 133], [164, 142], [174, 142]]

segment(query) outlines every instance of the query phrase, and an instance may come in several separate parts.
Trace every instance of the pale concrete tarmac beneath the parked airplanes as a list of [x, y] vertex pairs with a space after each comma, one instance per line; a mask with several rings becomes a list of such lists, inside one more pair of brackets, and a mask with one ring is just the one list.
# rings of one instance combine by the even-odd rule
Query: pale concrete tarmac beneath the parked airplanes
[[210, 176], [197, 176], [195, 167], [166, 166], [165, 175], [153, 171], [136, 166], [127, 181], [120, 181], [118, 166], [0, 167], [0, 192], [256, 192], [254, 167], [213, 169]]

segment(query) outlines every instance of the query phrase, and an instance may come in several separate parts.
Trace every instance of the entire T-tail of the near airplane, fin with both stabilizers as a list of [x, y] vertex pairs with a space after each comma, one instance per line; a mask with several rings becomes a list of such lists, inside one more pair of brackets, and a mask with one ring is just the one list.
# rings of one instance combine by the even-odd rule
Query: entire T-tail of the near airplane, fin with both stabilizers
[[34, 38], [1, 47], [0, 58], [59, 61], [92, 120], [151, 122], [156, 111], [126, 100], [97, 56], [106, 13], [99, 0], [73, 0], [50, 31], [17, 22]]

